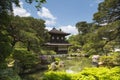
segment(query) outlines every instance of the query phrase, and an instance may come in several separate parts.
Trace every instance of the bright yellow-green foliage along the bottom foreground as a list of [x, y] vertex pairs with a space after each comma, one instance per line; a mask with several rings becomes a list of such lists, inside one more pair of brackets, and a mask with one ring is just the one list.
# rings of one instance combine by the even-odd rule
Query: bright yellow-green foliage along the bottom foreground
[[79, 73], [46, 72], [43, 80], [119, 80], [120, 67], [108, 68], [86, 68]]

